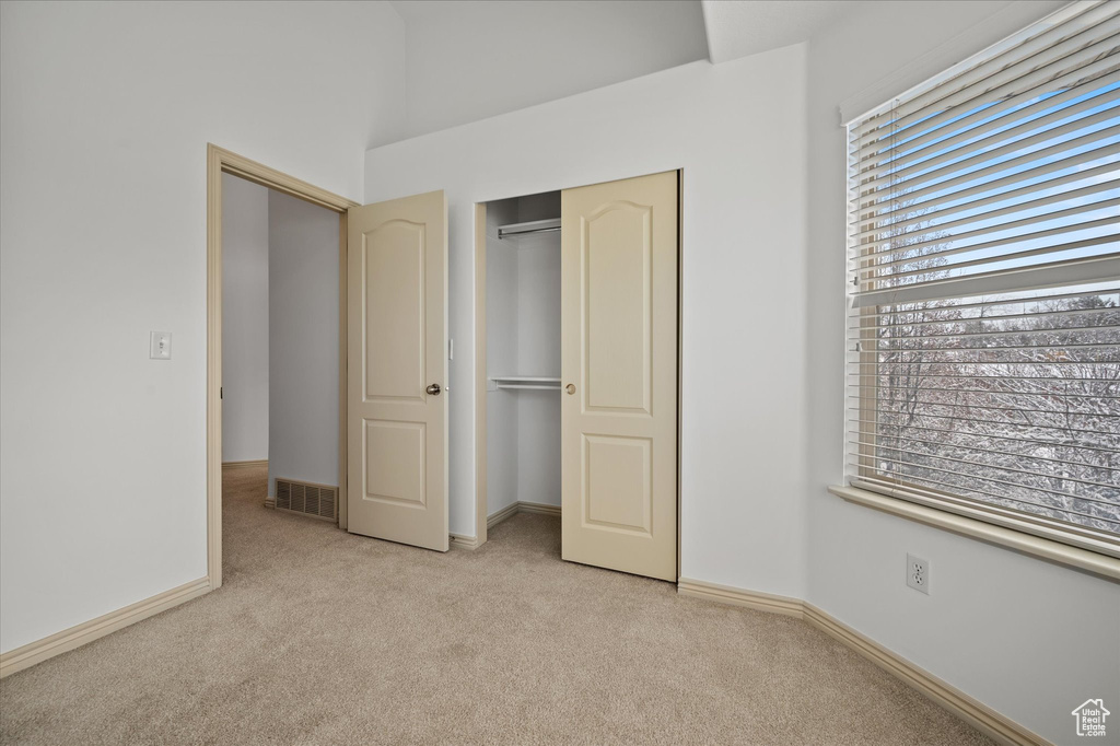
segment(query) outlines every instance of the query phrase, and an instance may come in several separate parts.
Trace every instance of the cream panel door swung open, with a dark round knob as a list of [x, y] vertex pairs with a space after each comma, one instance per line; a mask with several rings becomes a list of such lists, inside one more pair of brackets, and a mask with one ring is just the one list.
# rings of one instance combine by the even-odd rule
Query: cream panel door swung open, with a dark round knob
[[447, 551], [447, 202], [347, 217], [347, 529]]

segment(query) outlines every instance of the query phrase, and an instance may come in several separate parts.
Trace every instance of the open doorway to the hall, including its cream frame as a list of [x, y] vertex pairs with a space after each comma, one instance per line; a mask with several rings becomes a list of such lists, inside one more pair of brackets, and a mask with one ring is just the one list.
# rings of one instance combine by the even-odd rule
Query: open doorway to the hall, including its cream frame
[[346, 528], [355, 203], [215, 146], [207, 197], [207, 569], [217, 588], [223, 477], [231, 497]]

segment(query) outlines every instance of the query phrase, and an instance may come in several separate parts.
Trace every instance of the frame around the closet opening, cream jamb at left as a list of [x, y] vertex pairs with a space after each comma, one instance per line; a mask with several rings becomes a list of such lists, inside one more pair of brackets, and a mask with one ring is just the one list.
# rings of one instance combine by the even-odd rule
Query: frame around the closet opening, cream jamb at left
[[[684, 168], [663, 169], [651, 176], [668, 170], [676, 171], [676, 577], [681, 576], [681, 454], [683, 453], [683, 430], [681, 419], [681, 392], [684, 391]], [[612, 180], [619, 180], [612, 179]], [[581, 184], [563, 189], [576, 189]], [[539, 193], [531, 193], [539, 194]], [[515, 195], [523, 196], [523, 195]], [[486, 205], [500, 199], [513, 197], [495, 197], [475, 203], [475, 540], [470, 549], [477, 549], [486, 543], [488, 529], [488, 494], [486, 488]]]

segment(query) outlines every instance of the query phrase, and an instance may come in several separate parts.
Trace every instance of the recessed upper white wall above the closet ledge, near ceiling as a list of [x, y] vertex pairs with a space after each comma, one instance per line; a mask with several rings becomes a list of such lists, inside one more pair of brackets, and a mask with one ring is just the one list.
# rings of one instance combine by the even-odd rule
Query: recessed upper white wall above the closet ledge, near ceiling
[[416, 0], [408, 134], [423, 134], [708, 56], [693, 0]]

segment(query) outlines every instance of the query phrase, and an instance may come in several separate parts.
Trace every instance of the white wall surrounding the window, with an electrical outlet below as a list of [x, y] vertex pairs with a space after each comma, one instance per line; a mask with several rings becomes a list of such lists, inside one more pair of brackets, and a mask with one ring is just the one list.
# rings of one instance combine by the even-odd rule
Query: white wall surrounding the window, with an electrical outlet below
[[[1036, 733], [1072, 743], [1073, 708], [1090, 696], [1120, 702], [1120, 586], [825, 492], [842, 479], [844, 430], [837, 106], [909, 63], [883, 100], [941, 72], [946, 64], [924, 55], [959, 34], [971, 36], [953, 62], [1062, 3], [871, 4], [874, 18], [866, 8], [849, 13], [809, 45], [809, 599]], [[997, 12], [978, 35], [977, 25]], [[907, 551], [930, 560], [930, 596], [905, 586]]]

